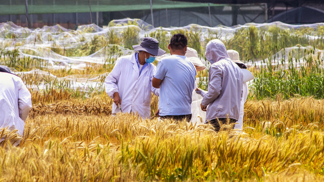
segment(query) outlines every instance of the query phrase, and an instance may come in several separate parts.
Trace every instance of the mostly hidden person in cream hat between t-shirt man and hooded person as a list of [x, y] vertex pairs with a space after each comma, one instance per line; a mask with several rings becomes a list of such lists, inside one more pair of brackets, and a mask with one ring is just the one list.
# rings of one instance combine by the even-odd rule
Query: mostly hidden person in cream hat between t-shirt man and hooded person
[[[196, 71], [203, 71], [206, 69], [206, 65], [201, 62], [201, 60], [198, 58], [198, 53], [196, 50], [192, 48], [187, 48], [187, 53], [185, 54], [185, 57], [194, 65], [196, 68]], [[194, 87], [197, 87], [197, 83], [194, 83]], [[192, 102], [191, 102], [191, 120], [193, 124], [197, 122], [197, 124], [202, 124], [205, 122], [206, 119], [206, 112], [202, 111], [200, 109], [200, 103], [201, 100], [203, 100], [203, 97], [201, 97], [199, 94], [196, 94], [195, 90], [192, 91]]]

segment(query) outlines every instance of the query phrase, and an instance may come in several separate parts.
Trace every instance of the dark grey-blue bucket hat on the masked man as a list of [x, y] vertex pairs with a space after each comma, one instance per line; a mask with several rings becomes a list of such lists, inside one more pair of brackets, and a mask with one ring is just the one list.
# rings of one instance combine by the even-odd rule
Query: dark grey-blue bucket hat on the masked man
[[166, 54], [163, 49], [158, 47], [158, 41], [152, 37], [145, 37], [141, 44], [132, 46], [135, 51], [145, 51], [154, 56]]

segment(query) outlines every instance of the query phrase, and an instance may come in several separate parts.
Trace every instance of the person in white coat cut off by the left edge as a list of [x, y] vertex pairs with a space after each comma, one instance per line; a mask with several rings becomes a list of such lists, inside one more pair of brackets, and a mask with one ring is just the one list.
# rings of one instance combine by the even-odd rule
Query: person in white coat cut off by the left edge
[[[0, 128], [17, 129], [17, 133], [22, 136], [31, 109], [31, 95], [21, 78], [7, 68], [0, 68]], [[4, 138], [0, 140], [3, 141]], [[10, 142], [17, 146], [20, 140]]]

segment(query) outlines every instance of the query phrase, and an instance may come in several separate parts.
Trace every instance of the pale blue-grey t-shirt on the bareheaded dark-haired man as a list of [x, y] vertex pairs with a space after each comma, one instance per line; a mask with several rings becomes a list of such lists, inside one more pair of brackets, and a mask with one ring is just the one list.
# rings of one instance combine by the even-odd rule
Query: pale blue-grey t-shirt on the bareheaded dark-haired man
[[159, 115], [191, 114], [192, 90], [196, 69], [185, 56], [172, 55], [159, 61], [155, 78], [162, 80], [159, 93]]

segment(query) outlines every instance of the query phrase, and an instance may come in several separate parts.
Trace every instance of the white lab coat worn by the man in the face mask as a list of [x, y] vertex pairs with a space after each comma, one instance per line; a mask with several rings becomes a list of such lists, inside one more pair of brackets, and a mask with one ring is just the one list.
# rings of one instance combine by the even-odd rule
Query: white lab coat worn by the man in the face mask
[[[105, 79], [105, 89], [113, 99], [115, 92], [121, 99], [121, 110], [126, 113], [138, 113], [143, 118], [151, 116], [151, 92], [158, 96], [159, 89], [152, 86], [152, 78], [156, 67], [148, 64], [143, 67], [141, 75], [135, 59], [135, 54], [120, 57]], [[115, 103], [112, 104], [112, 114], [120, 112]]]

